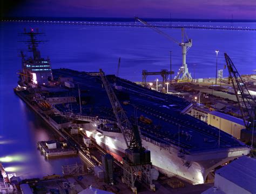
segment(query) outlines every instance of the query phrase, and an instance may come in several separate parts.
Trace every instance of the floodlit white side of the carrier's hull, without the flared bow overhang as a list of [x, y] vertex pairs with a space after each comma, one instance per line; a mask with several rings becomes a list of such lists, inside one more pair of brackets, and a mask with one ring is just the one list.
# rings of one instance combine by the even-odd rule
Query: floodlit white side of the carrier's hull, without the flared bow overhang
[[[116, 160], [122, 161], [126, 144], [122, 136], [106, 136], [98, 130], [86, 130], [86, 135], [92, 138], [97, 145], [110, 153]], [[190, 167], [184, 166], [184, 161], [177, 153], [170, 153], [149, 141], [143, 140], [143, 146], [151, 151], [153, 166], [166, 176], [179, 176], [193, 184], [204, 183], [203, 171], [200, 164], [192, 162]]]

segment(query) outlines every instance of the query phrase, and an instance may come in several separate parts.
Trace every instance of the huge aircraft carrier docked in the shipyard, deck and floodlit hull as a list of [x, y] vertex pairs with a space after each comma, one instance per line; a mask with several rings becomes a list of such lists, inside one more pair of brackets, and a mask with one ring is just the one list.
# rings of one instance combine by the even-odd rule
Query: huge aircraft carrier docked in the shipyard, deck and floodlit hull
[[[37, 80], [16, 93], [40, 107], [49, 120], [58, 116], [70, 121], [59, 124], [58, 130], [83, 121], [80, 127], [84, 136], [122, 161], [125, 141], [99, 73], [71, 69], [53, 69], [49, 73], [53, 77], [47, 79], [48, 83]], [[205, 183], [215, 168], [250, 152], [230, 134], [186, 114], [192, 104], [183, 98], [114, 75], [107, 79], [131, 123], [138, 121], [143, 146], [151, 151], [151, 162], [161, 173], [193, 184]]]

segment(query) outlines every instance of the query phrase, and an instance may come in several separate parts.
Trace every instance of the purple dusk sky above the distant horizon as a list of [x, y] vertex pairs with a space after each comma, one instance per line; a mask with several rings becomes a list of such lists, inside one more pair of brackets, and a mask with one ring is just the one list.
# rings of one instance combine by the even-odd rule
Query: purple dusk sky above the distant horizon
[[[7, 0], [6, 0], [7, 1]], [[28, 0], [12, 16], [256, 19], [256, 0]]]

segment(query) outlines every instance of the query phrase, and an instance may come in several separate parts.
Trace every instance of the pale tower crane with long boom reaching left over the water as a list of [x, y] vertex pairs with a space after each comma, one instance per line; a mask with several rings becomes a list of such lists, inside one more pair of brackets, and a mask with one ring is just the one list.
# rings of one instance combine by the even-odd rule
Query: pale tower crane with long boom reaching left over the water
[[[146, 21], [135, 17], [136, 20], [140, 21], [140, 23], [150, 27], [152, 30], [156, 31], [157, 33], [164, 35], [165, 38], [171, 40], [175, 44], [181, 46], [182, 49], [182, 66], [179, 68], [178, 74], [174, 77], [174, 80], [181, 80], [181, 81], [191, 81], [192, 76], [188, 72], [187, 64], [186, 64], [186, 55], [187, 51], [192, 47], [192, 39], [188, 39], [187, 34], [184, 28], [181, 28], [181, 42], [179, 43], [176, 39], [170, 37], [169, 34], [166, 34], [163, 31], [160, 31], [157, 27], [147, 23]], [[186, 41], [184, 41], [184, 37], [186, 37]]]

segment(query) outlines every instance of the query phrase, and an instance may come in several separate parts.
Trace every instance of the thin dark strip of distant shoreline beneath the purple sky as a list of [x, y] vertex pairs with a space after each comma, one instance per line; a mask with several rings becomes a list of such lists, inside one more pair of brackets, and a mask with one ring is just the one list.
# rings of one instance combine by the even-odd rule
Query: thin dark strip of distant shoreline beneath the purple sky
[[[2, 17], [1, 20], [52, 20], [52, 21], [127, 21], [133, 22], [134, 18], [89, 18], [89, 17]], [[146, 21], [164, 22], [232, 22], [232, 23], [256, 23], [256, 19], [179, 19], [179, 18], [142, 18]]]

